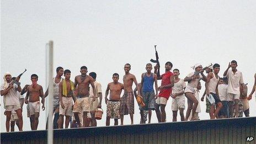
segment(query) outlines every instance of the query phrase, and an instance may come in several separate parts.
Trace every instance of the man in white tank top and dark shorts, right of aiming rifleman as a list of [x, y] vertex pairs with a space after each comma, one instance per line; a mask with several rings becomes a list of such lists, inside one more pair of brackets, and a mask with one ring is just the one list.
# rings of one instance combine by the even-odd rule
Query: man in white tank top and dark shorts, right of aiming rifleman
[[[218, 95], [218, 82], [220, 81], [218, 72], [220, 72], [220, 65], [218, 65], [218, 63], [215, 63], [214, 72], [209, 72], [206, 78], [206, 95], [207, 97], [209, 97], [209, 95], [211, 94], [215, 100], [215, 104], [217, 105], [214, 114], [210, 113], [211, 119], [218, 118], [218, 112], [222, 108], [222, 103]], [[210, 111], [213, 112], [214, 111], [213, 109], [214, 109], [213, 106], [211, 106]]]

